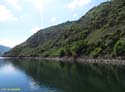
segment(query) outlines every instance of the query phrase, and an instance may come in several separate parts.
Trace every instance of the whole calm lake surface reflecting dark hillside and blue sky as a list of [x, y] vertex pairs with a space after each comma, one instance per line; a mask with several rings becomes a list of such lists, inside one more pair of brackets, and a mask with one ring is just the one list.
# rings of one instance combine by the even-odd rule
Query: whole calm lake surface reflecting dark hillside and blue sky
[[125, 66], [0, 58], [0, 92], [125, 92]]

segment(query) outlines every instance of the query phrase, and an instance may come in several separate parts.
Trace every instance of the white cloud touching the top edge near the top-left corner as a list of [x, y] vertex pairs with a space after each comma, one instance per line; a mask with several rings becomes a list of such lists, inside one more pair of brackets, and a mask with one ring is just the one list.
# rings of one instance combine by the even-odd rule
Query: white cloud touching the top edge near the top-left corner
[[7, 4], [11, 5], [16, 10], [22, 10], [18, 0], [4, 0]]

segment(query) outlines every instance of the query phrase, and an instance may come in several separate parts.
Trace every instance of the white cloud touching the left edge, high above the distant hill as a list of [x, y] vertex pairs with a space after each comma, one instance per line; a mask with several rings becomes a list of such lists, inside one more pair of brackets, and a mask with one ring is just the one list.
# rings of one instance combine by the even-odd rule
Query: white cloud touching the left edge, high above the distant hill
[[17, 21], [12, 12], [4, 5], [0, 5], [0, 22]]

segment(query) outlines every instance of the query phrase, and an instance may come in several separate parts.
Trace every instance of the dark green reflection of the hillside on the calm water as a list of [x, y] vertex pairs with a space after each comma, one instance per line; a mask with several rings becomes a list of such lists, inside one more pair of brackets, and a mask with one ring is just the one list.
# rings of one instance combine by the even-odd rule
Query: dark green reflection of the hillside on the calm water
[[125, 69], [116, 66], [78, 63], [16, 61], [39, 85], [59, 88], [64, 92], [124, 92]]

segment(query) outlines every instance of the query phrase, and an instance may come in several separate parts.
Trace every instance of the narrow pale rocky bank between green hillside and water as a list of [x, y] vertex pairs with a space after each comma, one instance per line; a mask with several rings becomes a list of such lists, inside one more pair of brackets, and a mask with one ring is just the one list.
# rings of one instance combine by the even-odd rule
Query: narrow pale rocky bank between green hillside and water
[[78, 63], [93, 63], [93, 64], [108, 64], [108, 65], [125, 65], [125, 60], [121, 58], [81, 58], [81, 57], [5, 57], [5, 59], [32, 59], [32, 60], [47, 60], [61, 62], [78, 62]]

